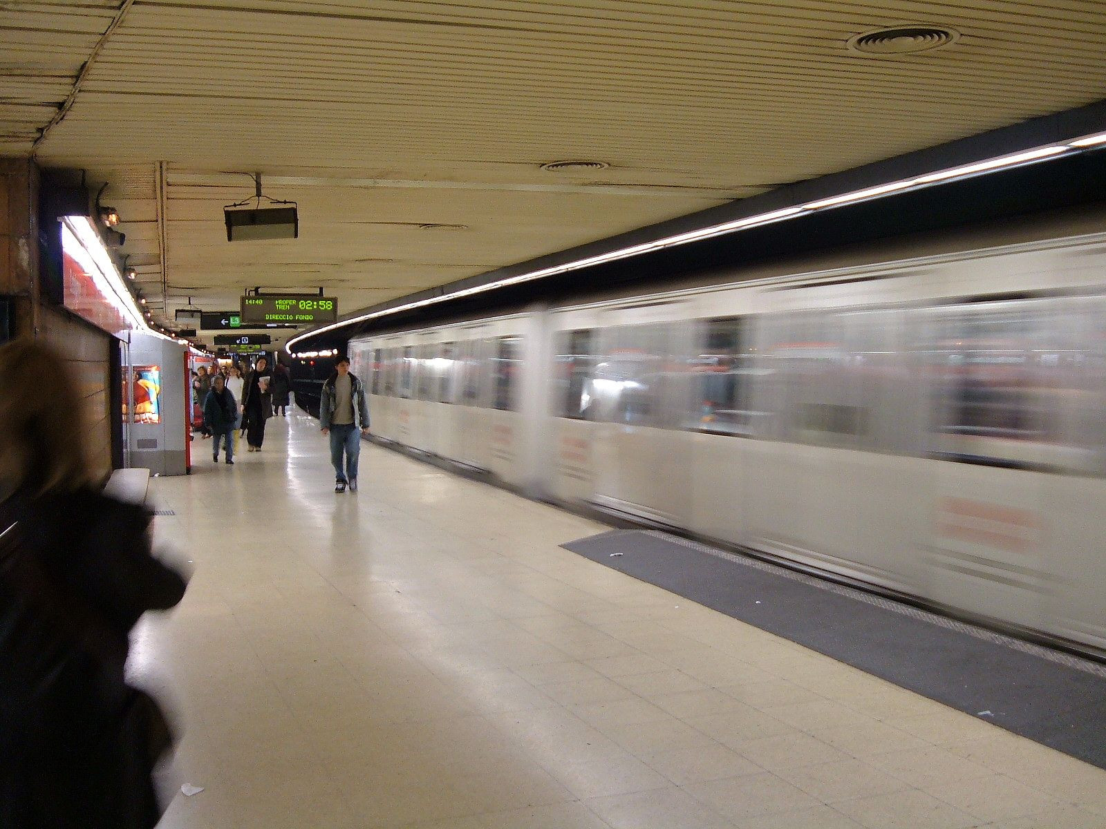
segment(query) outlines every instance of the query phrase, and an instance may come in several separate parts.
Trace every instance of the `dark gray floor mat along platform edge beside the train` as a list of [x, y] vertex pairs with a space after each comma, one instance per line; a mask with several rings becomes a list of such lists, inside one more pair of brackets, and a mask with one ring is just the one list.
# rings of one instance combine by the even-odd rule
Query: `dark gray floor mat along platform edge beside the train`
[[1106, 768], [1104, 665], [665, 533], [563, 546]]

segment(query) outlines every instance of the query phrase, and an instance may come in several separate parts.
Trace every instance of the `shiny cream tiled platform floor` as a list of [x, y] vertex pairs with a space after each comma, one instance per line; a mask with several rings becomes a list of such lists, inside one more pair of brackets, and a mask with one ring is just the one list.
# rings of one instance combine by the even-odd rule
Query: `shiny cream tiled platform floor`
[[1106, 773], [596, 565], [604, 529], [302, 413], [159, 479], [196, 575], [134, 669], [167, 829], [1089, 829]]

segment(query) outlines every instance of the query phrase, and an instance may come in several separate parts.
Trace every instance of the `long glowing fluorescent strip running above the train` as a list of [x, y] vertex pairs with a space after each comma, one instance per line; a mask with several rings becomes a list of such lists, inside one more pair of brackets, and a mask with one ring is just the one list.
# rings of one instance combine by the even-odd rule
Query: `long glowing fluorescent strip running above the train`
[[815, 201], [808, 201], [803, 204], [796, 204], [795, 207], [783, 208], [780, 210], [772, 210], [766, 213], [758, 213], [757, 216], [745, 217], [744, 219], [734, 219], [729, 222], [722, 222], [720, 224], [712, 224], [708, 228], [700, 228], [698, 230], [686, 231], [684, 233], [678, 233], [671, 237], [665, 237], [664, 239], [658, 239], [655, 242], [644, 242], [641, 244], [630, 245], [629, 248], [620, 248], [616, 251], [611, 251], [608, 253], [601, 253], [595, 256], [586, 256], [584, 259], [576, 260], [574, 262], [568, 262], [563, 265], [553, 265], [552, 267], [543, 267], [538, 271], [531, 271], [529, 273], [519, 274], [517, 276], [508, 276], [502, 280], [497, 280], [495, 282], [488, 282], [483, 285], [476, 285], [473, 287], [462, 288], [460, 291], [453, 291], [448, 294], [441, 294], [439, 296], [427, 297], [426, 300], [416, 300], [415, 302], [405, 303], [404, 305], [396, 305], [390, 308], [383, 308], [380, 311], [375, 311], [369, 314], [362, 314], [359, 316], [351, 317], [349, 319], [343, 319], [337, 323], [331, 323], [330, 325], [324, 325], [321, 328], [315, 328], [314, 330], [305, 332], [296, 337], [292, 337], [288, 340], [284, 349], [292, 354], [292, 346], [302, 339], [309, 337], [316, 337], [327, 332], [337, 330], [338, 328], [344, 328], [347, 325], [355, 325], [357, 323], [364, 323], [369, 319], [377, 319], [382, 316], [389, 316], [392, 314], [399, 314], [405, 311], [415, 311], [417, 308], [426, 307], [427, 305], [435, 305], [440, 302], [448, 302], [451, 300], [459, 300], [465, 296], [472, 296], [473, 294], [481, 294], [488, 291], [494, 291], [497, 288], [505, 287], [508, 285], [518, 285], [523, 282], [531, 282], [533, 280], [544, 279], [545, 276], [555, 276], [561, 273], [567, 273], [570, 271], [578, 271], [585, 267], [593, 267], [595, 265], [604, 264], [606, 262], [615, 262], [623, 259], [629, 259], [632, 256], [637, 256], [649, 251], [661, 250], [664, 248], [674, 248], [680, 244], [688, 244], [689, 242], [696, 242], [701, 239], [710, 239], [712, 237], [723, 235], [726, 233], [732, 233], [737, 230], [747, 230], [749, 228], [760, 227], [763, 224], [771, 224], [772, 222], [783, 221], [785, 219], [791, 219], [800, 214], [806, 214], [816, 210], [832, 209], [835, 207], [841, 207], [842, 204], [852, 204], [858, 201], [866, 201], [868, 199], [876, 199], [881, 196], [887, 196], [893, 192], [902, 192], [906, 190], [920, 189], [928, 187], [930, 185], [949, 181], [957, 178], [968, 178], [969, 176], [975, 176], [984, 172], [994, 172], [1002, 169], [1010, 169], [1012, 167], [1020, 167], [1026, 164], [1033, 164], [1034, 161], [1041, 161], [1046, 158], [1054, 158], [1060, 155], [1073, 151], [1082, 151], [1088, 147], [1098, 147], [1099, 145], [1106, 144], [1106, 133], [1098, 133], [1095, 135], [1084, 136], [1082, 138], [1076, 138], [1065, 144], [1051, 144], [1045, 147], [1036, 147], [1035, 149], [1025, 150], [1023, 153], [1014, 153], [1009, 156], [999, 156], [997, 158], [990, 158], [985, 161], [978, 161], [975, 164], [961, 165], [959, 167], [950, 167], [947, 170], [938, 170], [936, 172], [929, 172], [925, 176], [918, 176], [916, 178], [901, 179], [899, 181], [889, 181], [886, 185], [878, 185], [877, 187], [867, 187], [863, 190], [854, 190], [852, 192], [842, 193], [839, 196], [833, 196], [826, 199], [817, 199]]

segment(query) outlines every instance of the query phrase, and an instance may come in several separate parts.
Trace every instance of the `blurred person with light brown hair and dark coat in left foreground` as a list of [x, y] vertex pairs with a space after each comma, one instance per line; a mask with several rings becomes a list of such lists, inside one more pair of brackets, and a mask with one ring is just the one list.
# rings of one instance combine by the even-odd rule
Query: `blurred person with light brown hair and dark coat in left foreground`
[[[49, 395], [30, 393], [49, 388]], [[149, 512], [100, 492], [81, 398], [49, 348], [0, 348], [0, 827], [148, 829], [168, 723], [127, 685], [128, 633], [185, 579]]]

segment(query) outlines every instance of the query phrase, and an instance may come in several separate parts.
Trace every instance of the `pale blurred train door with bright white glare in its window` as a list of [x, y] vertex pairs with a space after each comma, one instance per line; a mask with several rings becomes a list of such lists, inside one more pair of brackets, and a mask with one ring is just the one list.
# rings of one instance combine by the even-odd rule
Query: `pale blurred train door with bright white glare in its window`
[[684, 375], [691, 342], [690, 326], [671, 319], [674, 308], [657, 303], [608, 317], [614, 324], [603, 332], [603, 356], [591, 380], [603, 421], [595, 500], [687, 526], [691, 464], [688, 434], [679, 427], [687, 412]]

